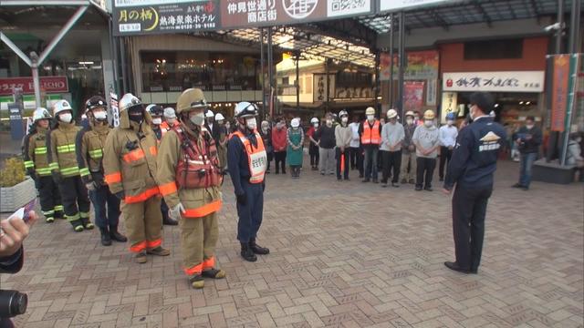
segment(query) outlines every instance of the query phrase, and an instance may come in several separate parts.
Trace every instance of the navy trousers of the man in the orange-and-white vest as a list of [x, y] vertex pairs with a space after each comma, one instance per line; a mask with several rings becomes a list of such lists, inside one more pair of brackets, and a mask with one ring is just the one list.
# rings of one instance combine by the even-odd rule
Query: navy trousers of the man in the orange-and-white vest
[[237, 202], [237, 240], [249, 242], [255, 239], [264, 216], [264, 189], [262, 183], [242, 181], [245, 190], [245, 204]]

